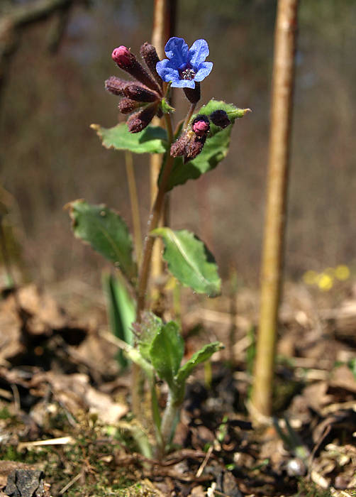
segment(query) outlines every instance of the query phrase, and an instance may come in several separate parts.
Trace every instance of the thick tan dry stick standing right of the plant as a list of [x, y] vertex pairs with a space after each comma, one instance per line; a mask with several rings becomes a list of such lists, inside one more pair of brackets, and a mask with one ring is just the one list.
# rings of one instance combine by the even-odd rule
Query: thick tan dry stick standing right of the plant
[[272, 115], [269, 136], [267, 212], [262, 252], [260, 326], [257, 337], [252, 411], [272, 412], [277, 318], [282, 280], [289, 139], [294, 86], [298, 0], [279, 0], [274, 38]]

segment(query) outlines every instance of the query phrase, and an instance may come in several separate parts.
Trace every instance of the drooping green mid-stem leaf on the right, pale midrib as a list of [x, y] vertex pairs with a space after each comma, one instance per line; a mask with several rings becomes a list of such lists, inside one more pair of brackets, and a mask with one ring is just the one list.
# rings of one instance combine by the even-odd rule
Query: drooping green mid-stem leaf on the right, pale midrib
[[212, 254], [204, 243], [193, 233], [182, 229], [157, 228], [150, 233], [162, 236], [165, 244], [163, 258], [168, 263], [169, 271], [183, 285], [208, 297], [217, 297], [221, 293], [221, 279]]

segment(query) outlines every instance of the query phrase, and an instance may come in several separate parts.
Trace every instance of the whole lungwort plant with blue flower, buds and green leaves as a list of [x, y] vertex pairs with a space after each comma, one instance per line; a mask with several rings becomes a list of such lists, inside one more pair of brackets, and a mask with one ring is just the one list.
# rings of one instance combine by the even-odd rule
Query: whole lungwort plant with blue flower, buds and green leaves
[[[168, 271], [182, 285], [208, 297], [221, 293], [218, 268], [204, 242], [185, 229], [175, 231], [169, 226], [159, 227], [165, 195], [174, 187], [216, 168], [228, 153], [235, 119], [249, 110], [212, 99], [196, 112], [201, 97], [200, 84], [213, 67], [212, 62], [206, 62], [209, 53], [206, 40], [196, 40], [189, 48], [182, 38], [170, 38], [165, 53], [167, 59], [159, 60], [155, 47], [144, 43], [140, 55], [145, 68], [125, 46], [113, 50], [114, 62], [131, 79], [111, 76], [105, 87], [120, 97], [118, 109], [128, 114], [128, 119], [111, 129], [96, 124], [91, 126], [106, 148], [162, 154], [157, 197], [148, 220], [142, 260], [135, 259], [128, 226], [119, 214], [105, 205], [90, 205], [84, 200], [69, 204], [74, 235], [119, 268], [131, 295], [135, 296], [133, 340], [129, 343], [126, 339], [121, 346], [128, 359], [142, 368], [150, 383], [155, 447], [149, 452], [159, 456], [167, 451], [174, 435], [188, 376], [223, 346], [220, 342], [206, 344], [182, 364], [184, 342], [178, 324], [163, 322], [148, 308], [152, 246], [157, 237], [165, 246], [163, 258]], [[189, 101], [187, 116], [177, 123], [175, 131], [172, 124], [174, 109], [169, 104], [171, 87], [182, 88]], [[164, 118], [165, 127], [152, 126], [154, 116]], [[165, 381], [168, 387], [163, 413], [157, 401], [157, 378]], [[137, 388], [134, 383], [133, 389]]]

